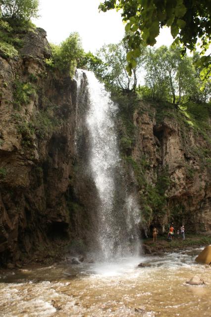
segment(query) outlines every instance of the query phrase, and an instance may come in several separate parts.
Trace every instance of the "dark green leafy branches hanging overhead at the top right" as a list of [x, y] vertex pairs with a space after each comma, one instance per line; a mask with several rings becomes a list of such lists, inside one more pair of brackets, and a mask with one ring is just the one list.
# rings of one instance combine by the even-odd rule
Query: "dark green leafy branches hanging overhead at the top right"
[[[122, 19], [127, 22], [125, 31], [130, 31], [126, 36], [131, 49], [128, 58], [129, 74], [134, 56], [139, 53], [140, 44], [153, 46], [159, 29], [163, 26], [170, 27], [174, 43], [183, 46], [183, 54], [186, 49], [191, 51], [196, 49], [198, 38], [201, 39], [202, 54], [209, 48], [211, 42], [211, 1], [209, 0], [105, 0], [99, 8], [104, 12], [114, 8], [122, 10]], [[202, 62], [206, 62], [205, 66], [208, 69], [210, 57]]]

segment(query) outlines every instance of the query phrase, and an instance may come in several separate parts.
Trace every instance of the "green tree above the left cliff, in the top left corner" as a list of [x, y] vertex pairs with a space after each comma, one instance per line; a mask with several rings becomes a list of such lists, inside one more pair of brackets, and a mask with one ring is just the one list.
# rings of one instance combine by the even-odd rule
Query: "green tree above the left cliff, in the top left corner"
[[4, 18], [29, 21], [38, 17], [39, 0], [1, 0], [1, 11]]

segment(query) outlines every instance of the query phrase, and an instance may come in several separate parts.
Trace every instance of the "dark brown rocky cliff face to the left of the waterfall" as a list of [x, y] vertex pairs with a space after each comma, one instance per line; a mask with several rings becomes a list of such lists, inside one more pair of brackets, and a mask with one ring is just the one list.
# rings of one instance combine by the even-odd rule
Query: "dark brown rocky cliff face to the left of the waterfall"
[[52, 71], [46, 32], [24, 35], [18, 57], [0, 57], [0, 260], [53, 256], [86, 240], [74, 194], [76, 83]]

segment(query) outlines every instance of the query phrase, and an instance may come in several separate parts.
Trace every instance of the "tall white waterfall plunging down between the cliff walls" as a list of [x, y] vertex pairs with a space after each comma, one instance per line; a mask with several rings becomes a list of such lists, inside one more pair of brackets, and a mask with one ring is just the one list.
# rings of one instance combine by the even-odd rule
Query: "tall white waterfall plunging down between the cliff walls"
[[[135, 194], [128, 190], [124, 179], [114, 125], [118, 106], [112, 102], [110, 94], [94, 73], [79, 69], [76, 80], [79, 89], [77, 121], [82, 120], [79, 118], [81, 112], [84, 116], [81, 124], [87, 129], [89, 142], [87, 170], [90, 169], [99, 196], [96, 212], [99, 254], [104, 260], [134, 254], [139, 240], [140, 212]], [[80, 123], [77, 125], [80, 126]], [[80, 143], [79, 139], [77, 135], [76, 142]], [[83, 152], [82, 148], [80, 152]]]

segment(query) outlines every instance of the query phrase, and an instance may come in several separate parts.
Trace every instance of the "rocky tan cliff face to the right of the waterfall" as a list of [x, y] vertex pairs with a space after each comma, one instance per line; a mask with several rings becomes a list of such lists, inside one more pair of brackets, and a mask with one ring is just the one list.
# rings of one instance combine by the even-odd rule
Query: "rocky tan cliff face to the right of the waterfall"
[[134, 111], [131, 156], [140, 166], [145, 230], [164, 232], [174, 222], [175, 229], [183, 223], [189, 232], [211, 232], [211, 117], [206, 105], [196, 107], [195, 117], [191, 107], [184, 113], [161, 103], [140, 102]]

